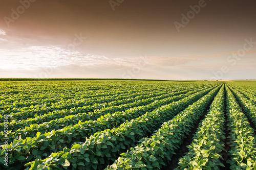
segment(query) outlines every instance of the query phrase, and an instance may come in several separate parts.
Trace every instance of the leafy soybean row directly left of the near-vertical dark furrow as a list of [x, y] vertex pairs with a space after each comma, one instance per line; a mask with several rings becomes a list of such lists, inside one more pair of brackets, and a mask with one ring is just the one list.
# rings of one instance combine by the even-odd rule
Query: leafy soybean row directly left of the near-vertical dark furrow
[[179, 159], [177, 169], [220, 169], [221, 152], [224, 146], [224, 86], [221, 88], [210, 106], [208, 114], [200, 123], [188, 153]]

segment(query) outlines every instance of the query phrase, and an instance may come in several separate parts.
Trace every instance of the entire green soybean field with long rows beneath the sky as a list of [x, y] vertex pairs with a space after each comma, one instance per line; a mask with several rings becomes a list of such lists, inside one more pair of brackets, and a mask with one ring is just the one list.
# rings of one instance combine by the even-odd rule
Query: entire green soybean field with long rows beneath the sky
[[1, 169], [256, 169], [255, 81], [0, 81]]

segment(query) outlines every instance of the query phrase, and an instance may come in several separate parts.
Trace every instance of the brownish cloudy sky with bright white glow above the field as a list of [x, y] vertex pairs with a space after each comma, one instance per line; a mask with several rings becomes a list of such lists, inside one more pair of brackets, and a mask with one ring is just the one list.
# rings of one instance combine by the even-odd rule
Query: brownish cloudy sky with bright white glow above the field
[[256, 79], [254, 1], [1, 0], [1, 78]]

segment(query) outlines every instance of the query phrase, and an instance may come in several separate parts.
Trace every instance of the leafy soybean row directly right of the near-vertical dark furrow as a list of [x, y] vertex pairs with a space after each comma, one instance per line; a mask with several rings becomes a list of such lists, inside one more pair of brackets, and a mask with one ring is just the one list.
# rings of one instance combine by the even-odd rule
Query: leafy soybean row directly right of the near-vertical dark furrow
[[231, 159], [227, 162], [231, 165], [230, 169], [255, 169], [256, 142], [253, 129], [230, 89], [226, 89], [228, 128], [231, 140], [231, 149], [228, 153]]

